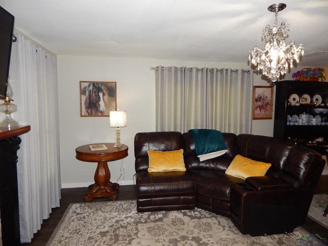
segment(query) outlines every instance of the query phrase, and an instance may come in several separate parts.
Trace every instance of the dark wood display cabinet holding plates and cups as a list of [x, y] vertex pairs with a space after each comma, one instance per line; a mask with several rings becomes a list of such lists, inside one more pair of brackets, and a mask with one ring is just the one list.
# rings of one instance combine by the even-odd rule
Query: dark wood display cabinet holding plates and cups
[[274, 137], [328, 154], [328, 82], [276, 84]]

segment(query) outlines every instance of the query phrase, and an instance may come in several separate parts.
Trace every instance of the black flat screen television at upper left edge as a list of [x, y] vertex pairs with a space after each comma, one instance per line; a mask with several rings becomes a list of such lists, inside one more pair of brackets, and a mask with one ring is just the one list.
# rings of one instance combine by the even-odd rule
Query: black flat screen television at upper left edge
[[15, 17], [0, 6], [0, 99], [6, 98]]

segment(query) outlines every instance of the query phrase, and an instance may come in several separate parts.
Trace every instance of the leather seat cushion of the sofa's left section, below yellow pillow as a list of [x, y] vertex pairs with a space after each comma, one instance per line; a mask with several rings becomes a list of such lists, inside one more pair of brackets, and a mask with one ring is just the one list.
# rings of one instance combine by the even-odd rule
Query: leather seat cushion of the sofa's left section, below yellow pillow
[[137, 173], [138, 198], [195, 195], [195, 184], [187, 172]]

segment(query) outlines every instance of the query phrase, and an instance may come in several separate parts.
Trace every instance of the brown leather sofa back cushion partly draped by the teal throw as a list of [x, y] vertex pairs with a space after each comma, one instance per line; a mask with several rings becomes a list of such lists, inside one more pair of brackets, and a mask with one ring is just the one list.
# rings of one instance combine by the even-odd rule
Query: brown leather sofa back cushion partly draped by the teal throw
[[224, 142], [226, 142], [227, 153], [213, 159], [199, 161], [191, 134], [189, 132], [183, 133], [183, 149], [185, 150], [184, 155], [187, 170], [202, 169], [221, 172], [226, 171], [234, 157], [233, 153], [237, 136], [233, 133], [222, 133], [222, 136]]

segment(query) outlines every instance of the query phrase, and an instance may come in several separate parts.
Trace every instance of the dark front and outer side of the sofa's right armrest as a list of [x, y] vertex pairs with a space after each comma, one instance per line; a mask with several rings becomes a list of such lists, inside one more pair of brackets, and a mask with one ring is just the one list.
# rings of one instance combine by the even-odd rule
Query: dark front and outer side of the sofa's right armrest
[[[269, 182], [270, 178], [264, 179], [268, 185], [271, 183], [273, 187], [279, 187], [279, 183], [273, 179], [272, 182]], [[263, 187], [266, 187], [264, 179], [252, 177], [251, 181], [256, 180], [259, 184], [262, 181]], [[248, 183], [244, 182], [244, 185]], [[261, 185], [259, 187], [263, 189]], [[303, 204], [301, 189], [250, 189], [245, 189], [239, 183], [231, 186], [230, 218], [242, 234], [260, 236], [293, 232], [304, 222], [308, 211]]]

